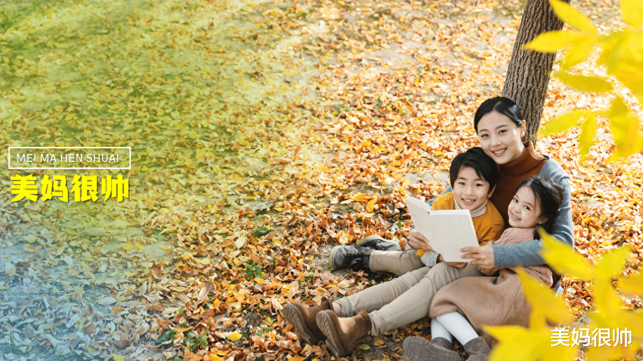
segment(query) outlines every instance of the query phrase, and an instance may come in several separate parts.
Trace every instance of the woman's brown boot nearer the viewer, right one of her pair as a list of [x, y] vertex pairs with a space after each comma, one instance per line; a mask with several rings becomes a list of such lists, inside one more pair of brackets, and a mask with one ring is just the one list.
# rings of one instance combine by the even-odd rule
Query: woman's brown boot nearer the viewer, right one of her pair
[[317, 326], [328, 337], [326, 343], [335, 357], [345, 357], [368, 338], [371, 324], [366, 311], [340, 318], [327, 310], [317, 313]]

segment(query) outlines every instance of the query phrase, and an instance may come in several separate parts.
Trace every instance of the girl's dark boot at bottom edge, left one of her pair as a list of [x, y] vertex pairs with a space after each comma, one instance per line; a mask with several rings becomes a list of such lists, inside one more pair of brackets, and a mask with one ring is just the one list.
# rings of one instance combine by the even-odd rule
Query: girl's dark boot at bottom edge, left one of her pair
[[453, 344], [444, 337], [406, 337], [402, 343], [404, 355], [412, 361], [460, 361], [460, 355], [453, 351]]

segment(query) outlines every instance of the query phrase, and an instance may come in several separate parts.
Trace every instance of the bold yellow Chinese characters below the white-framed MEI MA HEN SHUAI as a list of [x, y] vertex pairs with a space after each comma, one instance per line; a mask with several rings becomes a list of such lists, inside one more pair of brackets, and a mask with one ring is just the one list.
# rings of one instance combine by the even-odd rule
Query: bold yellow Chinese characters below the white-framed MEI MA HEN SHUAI
[[[30, 175], [14, 175], [11, 177], [14, 184], [11, 186], [11, 194], [15, 197], [11, 200], [17, 202], [22, 199], [38, 200], [39, 186], [36, 184], [37, 178]], [[71, 191], [74, 193], [74, 202], [84, 202], [98, 200], [98, 177], [96, 175], [74, 175], [71, 180]], [[112, 178], [111, 175], [100, 179], [101, 194], [105, 200], [116, 198], [122, 202], [123, 198], [129, 198], [129, 179], [123, 179], [122, 175]], [[67, 179], [64, 175], [54, 175], [49, 177], [45, 175], [40, 184], [41, 200], [50, 200], [55, 197], [63, 202], [69, 202], [69, 189], [67, 188]]]

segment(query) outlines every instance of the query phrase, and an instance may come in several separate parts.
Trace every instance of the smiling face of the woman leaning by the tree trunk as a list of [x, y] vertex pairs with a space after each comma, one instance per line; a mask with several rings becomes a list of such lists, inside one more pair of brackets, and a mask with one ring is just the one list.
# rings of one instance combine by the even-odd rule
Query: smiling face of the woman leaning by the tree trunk
[[525, 122], [516, 127], [508, 116], [495, 110], [488, 112], [478, 122], [478, 141], [482, 150], [496, 164], [505, 164], [520, 157], [525, 146], [521, 138], [525, 135]]

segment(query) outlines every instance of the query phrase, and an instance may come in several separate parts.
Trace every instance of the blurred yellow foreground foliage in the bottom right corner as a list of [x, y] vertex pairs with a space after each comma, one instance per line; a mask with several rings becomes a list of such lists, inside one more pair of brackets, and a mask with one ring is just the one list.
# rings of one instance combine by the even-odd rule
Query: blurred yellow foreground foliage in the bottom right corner
[[[617, 345], [619, 347], [593, 346], [586, 351], [588, 361], [618, 360], [620, 358], [633, 359], [640, 348], [640, 341], [643, 339], [643, 314], [626, 310], [623, 303], [612, 286], [611, 280], [620, 274], [624, 264], [631, 256], [630, 247], [622, 247], [602, 255], [602, 258], [592, 265], [583, 260], [568, 245], [558, 241], [556, 238], [540, 230], [543, 240], [541, 256], [557, 272], [566, 273], [566, 276], [593, 280], [593, 301], [595, 307], [590, 313], [589, 324], [581, 326], [590, 330], [592, 337], [593, 330], [607, 329], [613, 331], [630, 331], [631, 344]], [[570, 333], [570, 325], [573, 321], [572, 314], [563, 299], [554, 292], [543, 287], [531, 279], [523, 270], [518, 274], [523, 282], [525, 297], [532, 306], [530, 316], [530, 327], [520, 326], [499, 326], [486, 327], [485, 331], [498, 339], [500, 343], [496, 346], [490, 361], [500, 360], [574, 360], [575, 354], [580, 345], [572, 346], [570, 339], [568, 343], [556, 344], [552, 337], [554, 328], [561, 330], [566, 327]], [[642, 277], [640, 274], [620, 280], [617, 285], [634, 294], [643, 294]], [[550, 326], [550, 324], [557, 326]], [[575, 325], [573, 327], [579, 327]], [[627, 342], [625, 342], [627, 344]], [[556, 345], [556, 346], [554, 346]]]

